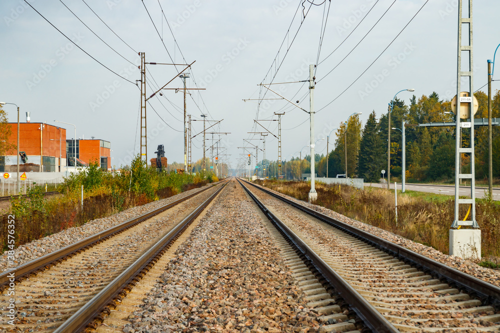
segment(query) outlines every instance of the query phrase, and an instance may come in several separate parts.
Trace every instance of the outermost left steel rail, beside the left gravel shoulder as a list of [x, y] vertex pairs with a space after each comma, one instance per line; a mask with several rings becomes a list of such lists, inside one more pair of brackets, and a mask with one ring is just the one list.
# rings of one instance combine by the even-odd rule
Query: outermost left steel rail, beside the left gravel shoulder
[[40, 258], [31, 260], [29, 262], [26, 262], [24, 264], [21, 264], [13, 269], [9, 269], [5, 272], [0, 273], [0, 291], [2, 291], [9, 283], [9, 275], [14, 272], [15, 280], [19, 281], [20, 278], [25, 277], [31, 273], [35, 273], [38, 270], [43, 270], [45, 268], [48, 268], [49, 265], [51, 265], [54, 262], [60, 262], [62, 261], [65, 257], [72, 255], [78, 251], [81, 251], [87, 247], [90, 247], [94, 245], [97, 242], [102, 241], [105, 238], [108, 238], [114, 234], [117, 234], [119, 232], [122, 232], [144, 220], [147, 220], [151, 218], [154, 215], [157, 215], [169, 208], [172, 208], [173, 206], [189, 199], [192, 198], [193, 196], [200, 194], [201, 192], [209, 189], [211, 187], [206, 187], [202, 190], [196, 191], [195, 193], [189, 194], [186, 197], [180, 198], [178, 200], [175, 200], [174, 202], [171, 202], [169, 204], [166, 204], [164, 206], [161, 206], [159, 208], [156, 208], [152, 211], [149, 211], [147, 213], [144, 213], [138, 217], [132, 218], [130, 220], [127, 220], [123, 223], [120, 223], [114, 227], [110, 227], [106, 230], [103, 230], [97, 234], [94, 234], [92, 236], [89, 236], [87, 238], [84, 238], [76, 243], [73, 243], [71, 245], [68, 245], [62, 249], [59, 249], [57, 251], [48, 253]]

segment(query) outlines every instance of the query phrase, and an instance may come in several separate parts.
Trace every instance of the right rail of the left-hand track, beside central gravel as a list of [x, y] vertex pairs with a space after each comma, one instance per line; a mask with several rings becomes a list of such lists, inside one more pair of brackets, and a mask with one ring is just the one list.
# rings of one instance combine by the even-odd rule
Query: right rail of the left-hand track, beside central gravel
[[151, 262], [151, 260], [159, 254], [159, 252], [174, 240], [183, 229], [187, 227], [196, 217], [208, 206], [208, 204], [217, 196], [218, 193], [227, 185], [223, 184], [215, 191], [208, 199], [192, 211], [184, 218], [177, 226], [175, 226], [168, 234], [163, 236], [156, 244], [147, 250], [140, 258], [125, 269], [119, 276], [110, 282], [104, 289], [67, 319], [59, 326], [54, 333], [62, 332], [81, 332], [87, 325], [98, 316], [102, 310], [113, 301], [113, 299], [128, 285], [132, 280], [141, 273], [142, 270]]

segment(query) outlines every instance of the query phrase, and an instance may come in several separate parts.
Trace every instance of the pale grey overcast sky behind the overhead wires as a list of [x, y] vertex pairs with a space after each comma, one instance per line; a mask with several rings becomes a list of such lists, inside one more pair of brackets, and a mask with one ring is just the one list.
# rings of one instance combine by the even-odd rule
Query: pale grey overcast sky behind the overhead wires
[[[25, 119], [24, 112], [30, 111], [32, 122], [57, 125], [53, 122], [56, 119], [75, 124], [77, 137], [94, 136], [110, 141], [111, 163], [116, 167], [129, 163], [132, 155], [138, 153], [140, 90], [135, 80], [140, 79], [137, 68], [140, 57], [137, 52], [145, 52], [146, 62], [195, 61], [186, 84], [206, 90], [190, 91], [187, 112], [193, 119], [201, 119], [201, 113], [206, 113], [209, 120], [224, 119], [220, 127], [212, 129], [231, 133], [221, 140], [221, 145], [231, 155], [228, 158], [233, 167], [242, 152], [237, 147], [244, 144], [243, 139], [252, 137], [247, 132], [261, 130], [256, 130], [253, 124], [257, 101], [242, 99], [261, 97], [266, 89], [258, 84], [268, 83], [272, 77], [273, 82], [307, 80], [309, 64], [317, 63], [321, 31], [320, 64], [315, 72], [314, 89], [314, 109], [318, 111], [316, 139], [325, 138], [353, 112], [362, 112], [363, 125], [372, 110], [379, 117], [401, 89], [414, 88], [417, 97], [436, 91], [443, 99], [450, 99], [456, 91], [457, 0], [431, 0], [425, 5], [425, 0], [334, 0], [317, 6], [305, 1], [304, 10], [303, 0], [84, 1], [123, 41], [83, 0], [62, 2], [109, 46], [59, 0], [29, 3], [82, 50], [23, 0], [1, 1], [0, 100], [19, 105], [21, 121]], [[322, 2], [314, 0], [314, 3]], [[486, 60], [493, 58], [500, 43], [500, 26], [496, 24], [500, 1], [475, 1], [473, 13], [476, 90], [486, 83]], [[174, 78], [182, 66], [147, 65], [146, 68], [149, 96], [153, 89]], [[494, 90], [498, 88], [496, 85], [493, 83]], [[182, 80], [175, 78], [167, 87], [181, 88]], [[307, 84], [272, 85], [271, 89], [281, 91], [281, 95], [292, 101], [300, 100], [299, 106], [309, 110]], [[485, 87], [482, 90], [486, 91]], [[398, 97], [408, 102], [412, 94], [404, 91]], [[264, 97], [277, 96], [268, 91]], [[163, 90], [163, 96], [158, 94], [149, 101], [148, 159], [153, 157], [157, 145], [163, 144], [169, 162], [182, 162], [182, 93]], [[9, 121], [16, 121], [15, 107], [5, 105], [4, 109]], [[309, 144], [308, 114], [284, 100], [267, 100], [262, 101], [258, 118], [277, 119], [273, 112], [278, 111], [285, 112], [282, 159], [288, 160], [291, 154], [298, 156], [300, 148]], [[262, 124], [277, 134], [276, 121]], [[67, 138], [72, 138], [73, 127], [63, 127], [68, 129]], [[193, 135], [202, 131], [202, 127], [201, 121], [193, 122]], [[201, 145], [202, 137], [198, 135], [193, 140], [194, 161], [202, 157]], [[317, 142], [316, 152], [326, 152], [326, 140]], [[304, 148], [302, 155], [306, 153]], [[267, 136], [266, 158], [277, 159], [277, 140], [272, 136]]]

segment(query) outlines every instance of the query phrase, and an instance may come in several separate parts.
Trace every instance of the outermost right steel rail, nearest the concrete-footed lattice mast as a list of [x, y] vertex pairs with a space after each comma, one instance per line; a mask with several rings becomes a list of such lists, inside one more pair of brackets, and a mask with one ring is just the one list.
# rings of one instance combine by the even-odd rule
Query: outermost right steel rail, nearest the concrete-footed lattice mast
[[429, 274], [440, 281], [447, 282], [452, 288], [461, 289], [466, 294], [469, 294], [472, 298], [477, 297], [481, 300], [483, 305], [491, 305], [497, 309], [500, 308], [500, 288], [492, 284], [458, 271], [447, 265], [441, 264], [435, 260], [422, 256], [414, 251], [403, 248], [402, 246], [389, 242], [385, 239], [372, 235], [364, 230], [355, 228], [330, 216], [327, 216], [320, 212], [316, 212], [311, 208], [305, 207], [290, 199], [272, 193], [271, 191], [256, 186], [255, 184], [248, 184], [279, 200], [284, 201], [292, 207], [297, 208], [322, 222], [325, 222], [337, 229], [343, 230], [344, 232], [356, 237], [357, 239], [379, 250], [382, 250], [395, 258], [402, 260], [406, 264], [426, 274]]

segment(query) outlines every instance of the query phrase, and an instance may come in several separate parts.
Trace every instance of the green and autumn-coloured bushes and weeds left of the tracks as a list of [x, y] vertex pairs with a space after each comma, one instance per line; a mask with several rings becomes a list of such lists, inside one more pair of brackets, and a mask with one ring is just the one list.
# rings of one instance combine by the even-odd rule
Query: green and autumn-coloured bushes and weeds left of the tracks
[[[212, 175], [208, 175], [206, 179], [175, 173], [158, 175], [148, 167], [138, 169], [136, 174], [142, 178], [132, 180], [126, 175], [112, 177], [98, 169], [93, 171], [66, 179], [62, 186], [57, 187], [63, 195], [44, 198], [45, 187], [34, 186], [27, 191], [27, 198], [13, 198], [10, 213], [15, 216], [15, 246], [218, 181]], [[85, 184], [83, 208], [80, 204], [82, 184]], [[129, 184], [131, 191], [128, 191]], [[51, 190], [55, 190], [55, 187], [47, 188], [47, 191]], [[0, 215], [2, 251], [7, 249], [8, 216]]]

